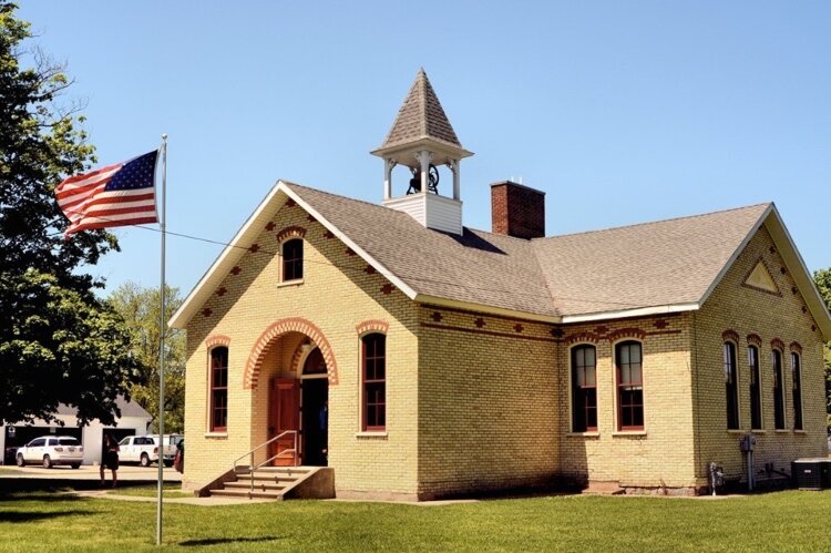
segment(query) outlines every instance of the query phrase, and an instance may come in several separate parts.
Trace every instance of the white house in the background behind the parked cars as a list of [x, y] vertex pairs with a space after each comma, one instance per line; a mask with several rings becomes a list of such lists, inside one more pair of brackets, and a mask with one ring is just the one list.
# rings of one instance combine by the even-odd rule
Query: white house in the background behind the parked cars
[[115, 419], [115, 426], [105, 427], [98, 420], [86, 427], [79, 428], [78, 410], [61, 403], [57, 418], [63, 426], [55, 422], [35, 420], [29, 424], [0, 426], [0, 451], [3, 451], [3, 464], [14, 464], [14, 450], [24, 446], [39, 436], [73, 436], [84, 447], [83, 464], [99, 464], [101, 462], [101, 444], [104, 432], [121, 440], [125, 436], [143, 434], [147, 432], [147, 424], [153, 417], [142, 406], [134, 401], [116, 400], [121, 417]]

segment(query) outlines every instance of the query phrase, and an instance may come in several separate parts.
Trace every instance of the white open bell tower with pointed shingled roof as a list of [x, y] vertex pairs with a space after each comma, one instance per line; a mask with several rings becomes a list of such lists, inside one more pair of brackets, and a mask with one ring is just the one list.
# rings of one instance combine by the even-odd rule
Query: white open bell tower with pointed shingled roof
[[[383, 160], [386, 207], [404, 212], [428, 228], [462, 234], [459, 163], [473, 152], [459, 142], [423, 69], [383, 144], [371, 154]], [[393, 190], [392, 172], [398, 165], [407, 167], [410, 175], [406, 187]], [[452, 188], [440, 182], [440, 167], [450, 171]], [[445, 190], [451, 190], [452, 196], [442, 195]]]

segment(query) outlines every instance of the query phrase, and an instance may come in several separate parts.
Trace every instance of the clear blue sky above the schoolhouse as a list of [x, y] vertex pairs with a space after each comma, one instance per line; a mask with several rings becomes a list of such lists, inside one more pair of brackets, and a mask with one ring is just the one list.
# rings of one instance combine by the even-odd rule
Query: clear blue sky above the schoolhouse
[[[464, 224], [489, 184], [546, 192], [567, 234], [773, 201], [831, 266], [831, 3], [40, 0], [101, 164], [170, 135], [168, 229], [228, 242], [278, 178], [378, 203], [383, 141], [423, 66], [461, 143]], [[449, 181], [449, 177], [445, 177]], [[399, 182], [403, 181], [399, 176]], [[90, 268], [158, 286], [158, 235]], [[220, 246], [170, 237], [187, 294]]]

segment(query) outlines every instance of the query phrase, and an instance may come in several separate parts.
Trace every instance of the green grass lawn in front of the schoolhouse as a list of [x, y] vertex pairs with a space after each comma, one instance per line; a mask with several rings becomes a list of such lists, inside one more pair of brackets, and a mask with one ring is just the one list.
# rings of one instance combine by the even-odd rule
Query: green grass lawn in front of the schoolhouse
[[[9, 482], [0, 480], [0, 551], [155, 549], [152, 502], [55, 493], [73, 485], [65, 482], [17, 490], [4, 487]], [[429, 508], [332, 501], [166, 504], [164, 528], [166, 550], [829, 551], [831, 491], [715, 501], [566, 495]]]

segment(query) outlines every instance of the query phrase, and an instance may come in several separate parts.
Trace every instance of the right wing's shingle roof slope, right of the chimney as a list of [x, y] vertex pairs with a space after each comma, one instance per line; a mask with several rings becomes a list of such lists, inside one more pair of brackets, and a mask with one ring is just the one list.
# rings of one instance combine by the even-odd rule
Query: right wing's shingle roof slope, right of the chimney
[[696, 308], [770, 204], [534, 240], [563, 316]]

